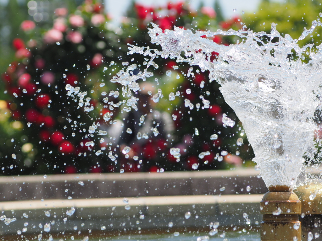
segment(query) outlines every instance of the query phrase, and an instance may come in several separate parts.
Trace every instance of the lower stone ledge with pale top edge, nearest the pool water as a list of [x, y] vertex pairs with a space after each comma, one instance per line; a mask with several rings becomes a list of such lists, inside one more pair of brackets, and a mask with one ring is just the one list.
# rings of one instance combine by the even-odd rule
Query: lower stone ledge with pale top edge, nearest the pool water
[[[219, 222], [221, 227], [246, 227], [249, 224], [243, 213], [247, 213], [250, 225], [256, 226], [261, 221], [259, 202], [262, 197], [262, 194], [128, 197], [130, 210], [125, 209], [123, 198], [0, 202], [2, 213], [17, 219], [8, 226], [1, 221], [0, 234], [15, 234], [24, 228], [25, 222], [29, 225], [24, 234], [37, 234], [43, 230], [39, 223], [44, 225], [52, 220], [55, 223], [51, 225], [51, 233], [75, 232], [75, 226], [81, 233], [101, 230], [102, 226], [107, 232], [171, 229], [170, 221], [173, 228], [206, 228], [210, 222]], [[75, 208], [75, 213], [68, 216], [66, 211], [71, 207]], [[51, 216], [47, 217], [45, 211]], [[189, 219], [185, 219], [187, 211], [191, 212]], [[23, 213], [29, 217], [24, 218]]]

